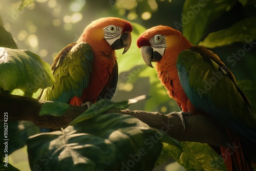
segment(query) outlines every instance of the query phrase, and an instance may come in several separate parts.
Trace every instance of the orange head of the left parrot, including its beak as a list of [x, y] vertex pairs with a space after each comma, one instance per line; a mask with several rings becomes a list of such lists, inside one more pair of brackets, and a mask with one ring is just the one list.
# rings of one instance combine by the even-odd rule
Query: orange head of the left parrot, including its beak
[[83, 34], [78, 39], [86, 41], [90, 45], [94, 44], [95, 49], [106, 51], [105, 41], [112, 50], [122, 49], [123, 54], [129, 50], [132, 37], [133, 27], [130, 22], [117, 17], [100, 18], [92, 22], [84, 29]]

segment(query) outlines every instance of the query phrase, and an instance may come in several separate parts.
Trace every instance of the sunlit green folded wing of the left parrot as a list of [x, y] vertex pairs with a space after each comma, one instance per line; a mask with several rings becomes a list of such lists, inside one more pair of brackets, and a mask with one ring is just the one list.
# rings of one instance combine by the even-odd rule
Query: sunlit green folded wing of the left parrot
[[92, 73], [93, 52], [87, 42], [73, 42], [54, 58], [52, 71], [54, 86], [41, 91], [41, 100], [67, 103], [74, 96], [80, 97], [88, 87]]

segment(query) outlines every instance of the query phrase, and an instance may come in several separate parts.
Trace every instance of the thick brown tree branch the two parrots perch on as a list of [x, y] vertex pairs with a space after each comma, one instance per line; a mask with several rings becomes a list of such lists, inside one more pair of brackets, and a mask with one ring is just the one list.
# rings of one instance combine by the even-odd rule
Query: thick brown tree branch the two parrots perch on
[[[8, 112], [8, 120], [28, 120], [40, 127], [59, 129], [65, 127], [78, 115], [87, 110], [87, 106], [70, 106], [62, 117], [39, 117], [41, 105], [47, 101], [37, 100], [25, 96], [1, 95], [0, 113]], [[49, 101], [48, 101], [49, 102]], [[132, 115], [151, 127], [159, 129], [179, 141], [193, 141], [208, 143], [216, 146], [226, 146], [228, 143], [225, 130], [214, 120], [206, 116], [184, 116], [186, 127], [178, 116], [164, 115], [158, 112], [110, 110], [108, 113], [122, 113]], [[3, 119], [4, 115], [0, 115]]]

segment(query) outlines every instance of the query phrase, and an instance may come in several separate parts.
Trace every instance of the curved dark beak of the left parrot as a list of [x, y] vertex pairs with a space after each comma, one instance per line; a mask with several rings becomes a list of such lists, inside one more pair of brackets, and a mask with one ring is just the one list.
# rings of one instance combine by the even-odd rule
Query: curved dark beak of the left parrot
[[125, 52], [127, 52], [129, 50], [131, 44], [132, 44], [131, 33], [124, 32], [121, 34], [120, 39], [117, 39], [116, 41], [113, 42], [113, 44], [111, 45], [111, 48], [114, 50], [124, 48], [123, 53], [122, 53], [122, 54], [124, 54]]

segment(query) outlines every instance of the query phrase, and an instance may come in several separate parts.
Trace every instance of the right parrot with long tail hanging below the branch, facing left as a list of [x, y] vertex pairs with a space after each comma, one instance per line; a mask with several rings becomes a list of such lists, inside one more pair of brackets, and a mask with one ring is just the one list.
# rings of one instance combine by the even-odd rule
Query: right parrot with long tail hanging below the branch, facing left
[[227, 170], [252, 170], [243, 149], [245, 144], [255, 149], [256, 118], [248, 98], [218, 55], [191, 45], [179, 31], [167, 26], [146, 30], [137, 46], [148, 66], [153, 68], [152, 62], [156, 62], [158, 78], [181, 114], [206, 115], [225, 127], [230, 143], [237, 147], [234, 151], [220, 147]]

